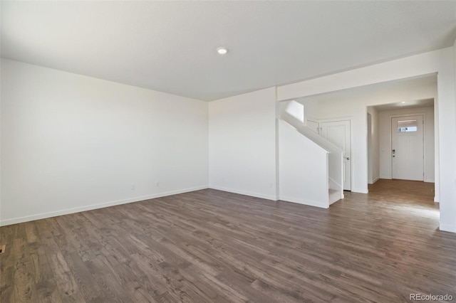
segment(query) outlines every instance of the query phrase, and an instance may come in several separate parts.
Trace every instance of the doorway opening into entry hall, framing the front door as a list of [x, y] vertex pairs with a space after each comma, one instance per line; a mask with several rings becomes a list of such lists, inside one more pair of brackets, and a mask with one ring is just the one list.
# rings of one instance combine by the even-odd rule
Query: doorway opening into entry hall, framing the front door
[[369, 188], [380, 179], [420, 181], [425, 183], [423, 188], [432, 188], [427, 196], [433, 195], [430, 201], [436, 201], [434, 99], [367, 109]]

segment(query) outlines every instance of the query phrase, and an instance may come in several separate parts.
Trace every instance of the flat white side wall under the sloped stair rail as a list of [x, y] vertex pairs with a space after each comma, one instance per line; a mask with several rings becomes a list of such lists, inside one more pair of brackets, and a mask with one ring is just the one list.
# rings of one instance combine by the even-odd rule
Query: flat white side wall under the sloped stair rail
[[321, 169], [327, 167], [327, 155], [327, 151], [280, 120], [280, 200], [328, 208], [328, 171]]

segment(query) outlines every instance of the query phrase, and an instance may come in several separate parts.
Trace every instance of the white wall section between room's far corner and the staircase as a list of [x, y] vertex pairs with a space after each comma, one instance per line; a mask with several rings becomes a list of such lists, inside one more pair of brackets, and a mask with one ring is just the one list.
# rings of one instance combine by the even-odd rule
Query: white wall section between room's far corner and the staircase
[[275, 87], [209, 102], [209, 187], [276, 200]]

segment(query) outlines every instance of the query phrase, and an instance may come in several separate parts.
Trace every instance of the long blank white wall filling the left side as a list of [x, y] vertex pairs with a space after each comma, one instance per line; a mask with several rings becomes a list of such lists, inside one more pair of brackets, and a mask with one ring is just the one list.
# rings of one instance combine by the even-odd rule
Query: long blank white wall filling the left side
[[206, 102], [2, 59], [1, 224], [207, 188], [207, 120]]

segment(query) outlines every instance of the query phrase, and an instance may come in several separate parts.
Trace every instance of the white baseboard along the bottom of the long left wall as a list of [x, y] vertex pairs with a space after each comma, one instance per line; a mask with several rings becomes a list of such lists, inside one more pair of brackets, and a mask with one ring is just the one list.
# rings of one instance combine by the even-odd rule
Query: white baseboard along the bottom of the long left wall
[[197, 187], [192, 187], [192, 188], [184, 188], [184, 189], [180, 189], [177, 191], [154, 193], [154, 194], [148, 195], [148, 196], [140, 196], [140, 197], [128, 198], [128, 199], [118, 200], [118, 201], [97, 203], [97, 204], [92, 204], [89, 206], [67, 208], [67, 209], [62, 209], [60, 211], [50, 211], [48, 213], [38, 213], [38, 214], [32, 215], [32, 216], [24, 216], [24, 217], [19, 217], [19, 218], [1, 220], [0, 226], [11, 225], [11, 224], [16, 224], [16, 223], [24, 223], [24, 222], [28, 222], [28, 221], [46, 219], [46, 218], [51, 218], [51, 217], [56, 217], [56, 216], [63, 216], [63, 215], [68, 215], [70, 213], [80, 213], [81, 211], [91, 211], [93, 209], [98, 209], [98, 208], [105, 208], [105, 207], [109, 207], [109, 206], [116, 206], [116, 205], [120, 205], [120, 204], [149, 200], [149, 199], [153, 199], [153, 198], [177, 195], [178, 193], [188, 193], [190, 191], [199, 191], [201, 189], [206, 189], [206, 188], [208, 188], [208, 186], [197, 186]]

